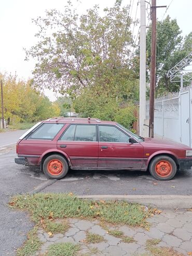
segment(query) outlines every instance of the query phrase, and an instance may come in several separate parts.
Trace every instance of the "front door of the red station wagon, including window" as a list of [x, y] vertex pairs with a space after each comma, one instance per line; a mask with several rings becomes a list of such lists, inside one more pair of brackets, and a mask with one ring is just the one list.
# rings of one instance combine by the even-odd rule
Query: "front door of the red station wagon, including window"
[[129, 143], [130, 136], [115, 125], [98, 125], [100, 168], [142, 168], [143, 146]]

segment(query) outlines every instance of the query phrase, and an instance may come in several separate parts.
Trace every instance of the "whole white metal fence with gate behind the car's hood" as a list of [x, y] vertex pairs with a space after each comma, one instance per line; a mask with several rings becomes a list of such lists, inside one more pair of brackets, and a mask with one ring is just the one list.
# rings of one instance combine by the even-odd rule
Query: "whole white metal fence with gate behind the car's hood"
[[[192, 147], [192, 87], [155, 100], [154, 133]], [[149, 102], [146, 103], [146, 119]]]

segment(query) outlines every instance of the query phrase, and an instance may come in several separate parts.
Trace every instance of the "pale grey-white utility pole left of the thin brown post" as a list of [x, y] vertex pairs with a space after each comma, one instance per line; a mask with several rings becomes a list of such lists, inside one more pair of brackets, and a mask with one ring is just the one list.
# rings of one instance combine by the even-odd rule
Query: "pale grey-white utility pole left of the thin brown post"
[[140, 136], [144, 137], [146, 119], [146, 15], [145, 0], [140, 1]]

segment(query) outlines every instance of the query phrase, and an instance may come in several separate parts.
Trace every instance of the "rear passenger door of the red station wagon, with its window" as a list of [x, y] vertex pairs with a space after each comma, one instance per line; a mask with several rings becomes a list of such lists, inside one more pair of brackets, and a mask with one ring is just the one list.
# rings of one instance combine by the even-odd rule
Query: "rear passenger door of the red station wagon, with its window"
[[73, 167], [98, 166], [98, 136], [94, 124], [71, 124], [57, 142], [57, 148], [65, 152]]

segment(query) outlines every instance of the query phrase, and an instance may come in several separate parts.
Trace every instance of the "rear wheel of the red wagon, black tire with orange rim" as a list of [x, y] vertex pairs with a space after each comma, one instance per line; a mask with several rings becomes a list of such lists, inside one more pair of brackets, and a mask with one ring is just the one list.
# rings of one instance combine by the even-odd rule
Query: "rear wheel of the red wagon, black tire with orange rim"
[[43, 163], [43, 172], [49, 179], [62, 179], [68, 172], [68, 163], [61, 155], [50, 155]]

